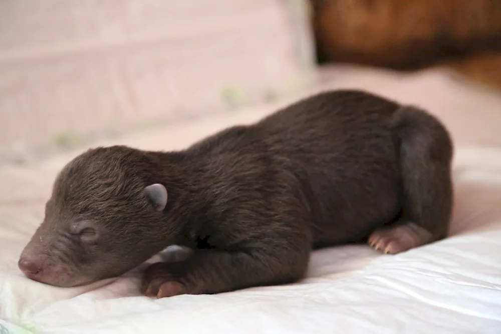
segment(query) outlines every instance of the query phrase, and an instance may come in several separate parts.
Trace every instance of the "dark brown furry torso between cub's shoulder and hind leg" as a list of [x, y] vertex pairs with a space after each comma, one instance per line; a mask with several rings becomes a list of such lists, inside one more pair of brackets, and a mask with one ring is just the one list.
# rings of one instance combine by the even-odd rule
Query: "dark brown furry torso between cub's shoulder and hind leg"
[[400, 206], [399, 105], [364, 92], [321, 93], [257, 128], [269, 152], [300, 180], [316, 244], [351, 241], [391, 220]]

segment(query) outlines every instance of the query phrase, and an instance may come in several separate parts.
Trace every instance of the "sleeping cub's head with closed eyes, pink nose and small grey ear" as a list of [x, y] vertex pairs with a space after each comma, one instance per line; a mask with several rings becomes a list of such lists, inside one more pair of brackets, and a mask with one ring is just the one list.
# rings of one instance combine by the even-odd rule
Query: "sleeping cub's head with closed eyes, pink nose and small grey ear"
[[31, 279], [76, 286], [118, 276], [166, 247], [167, 190], [151, 153], [91, 149], [59, 173], [45, 217], [18, 265]]

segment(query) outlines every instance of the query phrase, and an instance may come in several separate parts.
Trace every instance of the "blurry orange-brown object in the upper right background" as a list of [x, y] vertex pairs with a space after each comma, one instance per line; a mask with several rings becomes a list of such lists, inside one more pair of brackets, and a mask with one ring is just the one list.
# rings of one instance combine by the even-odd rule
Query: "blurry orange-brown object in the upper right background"
[[318, 63], [437, 63], [501, 88], [501, 0], [310, 0]]

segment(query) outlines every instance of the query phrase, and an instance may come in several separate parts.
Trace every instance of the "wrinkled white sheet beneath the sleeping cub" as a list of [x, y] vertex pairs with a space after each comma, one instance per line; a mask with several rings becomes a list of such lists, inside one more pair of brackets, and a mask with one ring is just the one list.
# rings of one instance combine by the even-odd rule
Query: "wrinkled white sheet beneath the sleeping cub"
[[393, 256], [324, 249], [297, 284], [218, 295], [150, 299], [137, 270], [31, 281], [17, 259], [36, 224], [0, 217], [0, 333], [501, 333], [501, 150], [456, 148], [454, 169], [449, 238]]

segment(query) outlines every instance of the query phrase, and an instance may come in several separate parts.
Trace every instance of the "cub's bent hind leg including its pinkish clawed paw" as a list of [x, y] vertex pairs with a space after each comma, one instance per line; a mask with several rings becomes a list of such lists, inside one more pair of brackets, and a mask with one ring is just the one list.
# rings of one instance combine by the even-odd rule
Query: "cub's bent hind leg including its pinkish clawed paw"
[[392, 125], [400, 143], [402, 216], [376, 229], [368, 242], [396, 254], [446, 236], [453, 201], [453, 146], [445, 127], [423, 110], [403, 107]]

